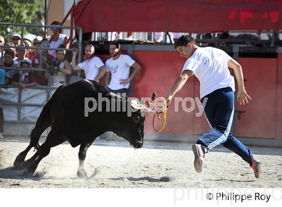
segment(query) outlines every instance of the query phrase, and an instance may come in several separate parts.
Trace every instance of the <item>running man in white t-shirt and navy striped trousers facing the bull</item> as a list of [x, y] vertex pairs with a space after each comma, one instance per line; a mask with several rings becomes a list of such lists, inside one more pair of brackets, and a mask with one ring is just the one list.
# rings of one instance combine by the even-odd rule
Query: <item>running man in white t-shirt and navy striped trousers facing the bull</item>
[[[244, 161], [250, 164], [255, 177], [261, 176], [261, 163], [253, 158], [248, 147], [236, 139], [230, 132], [234, 115], [235, 81], [228, 68], [232, 68], [238, 84], [237, 101], [240, 105], [249, 103], [251, 97], [244, 86], [241, 65], [232, 59], [225, 51], [214, 47], [198, 47], [190, 35], [182, 35], [174, 47], [181, 57], [187, 58], [182, 73], [176, 79], [167, 95], [167, 105], [172, 97], [182, 88], [189, 76], [195, 75], [200, 81], [201, 102], [206, 99], [204, 113], [210, 125], [210, 130], [203, 134], [196, 144], [192, 145], [195, 156], [194, 168], [197, 173], [202, 171], [205, 153], [213, 147], [223, 144], [234, 151]], [[228, 161], [227, 161], [228, 163]]]

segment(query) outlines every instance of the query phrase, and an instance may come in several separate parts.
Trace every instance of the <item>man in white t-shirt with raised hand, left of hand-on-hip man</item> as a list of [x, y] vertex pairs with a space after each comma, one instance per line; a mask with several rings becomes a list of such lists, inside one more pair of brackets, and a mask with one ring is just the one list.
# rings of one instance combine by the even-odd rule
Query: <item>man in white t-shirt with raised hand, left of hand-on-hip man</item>
[[84, 53], [87, 57], [87, 60], [79, 63], [77, 65], [76, 57], [78, 50], [73, 51], [72, 59], [72, 68], [74, 71], [84, 70], [85, 79], [95, 80], [99, 82], [99, 79], [102, 78], [106, 73], [106, 68], [102, 60], [98, 57], [95, 57], [95, 48], [92, 44], [88, 44], [84, 48]]

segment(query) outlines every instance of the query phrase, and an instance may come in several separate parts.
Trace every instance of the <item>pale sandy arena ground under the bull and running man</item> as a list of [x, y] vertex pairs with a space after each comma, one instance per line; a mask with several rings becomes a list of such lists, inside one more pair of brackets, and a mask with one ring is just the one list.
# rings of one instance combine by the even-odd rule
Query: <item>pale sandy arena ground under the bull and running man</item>
[[[77, 177], [79, 147], [73, 148], [67, 142], [51, 148], [33, 176], [23, 175], [22, 170], [7, 169], [28, 142], [29, 139], [24, 138], [0, 140], [0, 187], [282, 187], [281, 148], [250, 147], [263, 167], [262, 178], [256, 179], [249, 165], [224, 147], [209, 152], [202, 173], [197, 174], [193, 167], [191, 144], [145, 140], [143, 148], [133, 149], [123, 140], [98, 140], [87, 152], [85, 170], [89, 178], [82, 179]], [[28, 158], [33, 153], [31, 150]], [[164, 176], [168, 176], [170, 181], [162, 182], [160, 178]]]

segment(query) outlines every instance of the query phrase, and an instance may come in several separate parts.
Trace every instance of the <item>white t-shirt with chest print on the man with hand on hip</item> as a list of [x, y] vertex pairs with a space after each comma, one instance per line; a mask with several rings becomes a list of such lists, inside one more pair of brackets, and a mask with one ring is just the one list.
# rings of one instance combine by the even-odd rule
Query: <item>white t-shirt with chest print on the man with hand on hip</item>
[[128, 55], [120, 55], [117, 60], [110, 58], [106, 61], [106, 69], [111, 72], [111, 81], [108, 87], [112, 90], [119, 90], [122, 88], [129, 88], [130, 83], [125, 85], [120, 84], [120, 79], [127, 79], [129, 77], [130, 66], [135, 61]]

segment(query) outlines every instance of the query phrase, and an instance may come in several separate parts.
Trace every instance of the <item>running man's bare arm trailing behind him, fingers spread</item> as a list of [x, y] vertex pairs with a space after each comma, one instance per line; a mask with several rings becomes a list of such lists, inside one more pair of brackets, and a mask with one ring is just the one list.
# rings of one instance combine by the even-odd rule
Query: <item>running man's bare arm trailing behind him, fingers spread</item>
[[234, 59], [228, 61], [227, 64], [229, 68], [233, 69], [237, 80], [237, 85], [238, 85], [237, 101], [239, 101], [240, 105], [242, 104], [245, 105], [245, 103], [249, 103], [249, 100], [251, 100], [252, 98], [248, 95], [248, 93], [245, 90], [242, 67]]

